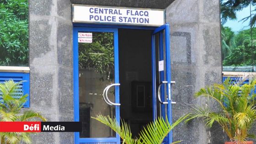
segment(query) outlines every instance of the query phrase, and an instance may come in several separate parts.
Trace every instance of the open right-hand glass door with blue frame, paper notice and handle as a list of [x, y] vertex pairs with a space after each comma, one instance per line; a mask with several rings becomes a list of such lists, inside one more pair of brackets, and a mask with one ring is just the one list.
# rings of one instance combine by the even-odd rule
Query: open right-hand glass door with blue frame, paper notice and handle
[[[163, 117], [171, 123], [171, 57], [170, 29], [165, 24], [154, 30], [152, 34], [152, 85], [153, 85], [153, 117]], [[167, 119], [166, 119], [167, 118]], [[169, 133], [164, 144], [172, 143]]]

